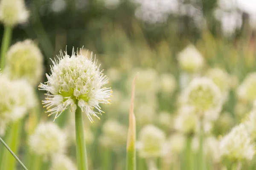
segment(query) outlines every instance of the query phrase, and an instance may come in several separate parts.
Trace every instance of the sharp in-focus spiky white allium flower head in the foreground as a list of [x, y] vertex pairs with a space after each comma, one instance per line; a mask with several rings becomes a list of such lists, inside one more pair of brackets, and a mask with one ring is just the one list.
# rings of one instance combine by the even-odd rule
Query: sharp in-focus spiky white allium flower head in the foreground
[[[99, 114], [105, 113], [99, 106], [100, 103], [110, 104], [112, 90], [104, 85], [108, 83], [108, 77], [99, 70], [97, 60], [81, 53], [73, 52], [69, 56], [67, 52], [60, 52], [58, 59], [52, 60], [51, 75], [46, 74], [48, 81], [39, 85], [39, 90], [47, 91], [46, 100], [42, 101], [47, 107], [47, 113], [55, 114], [56, 119], [70, 106], [70, 111], [75, 112], [81, 108], [90, 122], [91, 116], [98, 119]], [[96, 108], [96, 111], [94, 110]]]

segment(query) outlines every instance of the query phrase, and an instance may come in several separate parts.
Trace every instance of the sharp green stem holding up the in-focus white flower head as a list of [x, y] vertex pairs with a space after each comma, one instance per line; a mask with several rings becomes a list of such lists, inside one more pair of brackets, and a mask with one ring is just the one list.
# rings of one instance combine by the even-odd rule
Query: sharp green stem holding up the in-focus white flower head
[[82, 111], [78, 107], [75, 113], [76, 119], [76, 159], [78, 170], [88, 170], [87, 155], [84, 140], [84, 125]]

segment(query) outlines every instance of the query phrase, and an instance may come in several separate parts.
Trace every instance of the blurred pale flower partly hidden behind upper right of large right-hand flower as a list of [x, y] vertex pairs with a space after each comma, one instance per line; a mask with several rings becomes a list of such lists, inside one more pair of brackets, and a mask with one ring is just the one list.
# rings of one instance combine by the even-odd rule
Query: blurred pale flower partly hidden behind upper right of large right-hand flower
[[220, 68], [210, 68], [206, 73], [206, 77], [212, 79], [215, 85], [221, 90], [224, 98], [227, 99], [231, 87], [229, 74]]

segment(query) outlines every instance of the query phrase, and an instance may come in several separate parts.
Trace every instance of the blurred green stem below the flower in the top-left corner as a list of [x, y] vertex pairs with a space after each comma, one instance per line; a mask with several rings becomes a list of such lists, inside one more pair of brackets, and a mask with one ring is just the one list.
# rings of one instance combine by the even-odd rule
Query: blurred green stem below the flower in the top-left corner
[[0, 68], [3, 69], [5, 66], [6, 52], [9, 48], [10, 42], [12, 39], [12, 26], [5, 26], [3, 32], [3, 40], [1, 44], [1, 53], [0, 53]]

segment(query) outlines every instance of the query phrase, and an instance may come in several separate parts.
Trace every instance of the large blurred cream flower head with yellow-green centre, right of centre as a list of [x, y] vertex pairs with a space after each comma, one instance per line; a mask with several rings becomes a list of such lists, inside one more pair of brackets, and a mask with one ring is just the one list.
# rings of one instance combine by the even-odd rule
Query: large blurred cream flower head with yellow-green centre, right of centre
[[215, 120], [221, 111], [222, 97], [217, 85], [208, 78], [195, 78], [184, 91], [182, 100], [195, 107], [202, 118]]

